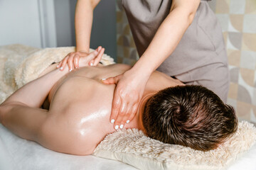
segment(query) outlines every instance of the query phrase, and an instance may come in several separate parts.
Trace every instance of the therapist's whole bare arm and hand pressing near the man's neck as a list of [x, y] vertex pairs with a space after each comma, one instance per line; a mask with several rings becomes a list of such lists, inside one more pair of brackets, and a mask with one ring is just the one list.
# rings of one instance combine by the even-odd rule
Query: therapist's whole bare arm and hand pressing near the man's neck
[[110, 116], [114, 127], [132, 120], [151, 73], [174, 52], [192, 23], [199, 4], [200, 0], [173, 0], [169, 15], [134, 67], [124, 74], [103, 81], [106, 84], [117, 84]]

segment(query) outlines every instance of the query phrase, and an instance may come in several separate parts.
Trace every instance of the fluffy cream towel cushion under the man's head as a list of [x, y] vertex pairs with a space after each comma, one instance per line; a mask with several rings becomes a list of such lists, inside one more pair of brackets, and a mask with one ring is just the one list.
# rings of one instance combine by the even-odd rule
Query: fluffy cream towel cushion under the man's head
[[245, 121], [223, 145], [201, 152], [180, 145], [169, 145], [146, 137], [142, 131], [119, 130], [105, 137], [94, 151], [97, 157], [115, 159], [138, 169], [227, 169], [256, 142], [256, 128]]

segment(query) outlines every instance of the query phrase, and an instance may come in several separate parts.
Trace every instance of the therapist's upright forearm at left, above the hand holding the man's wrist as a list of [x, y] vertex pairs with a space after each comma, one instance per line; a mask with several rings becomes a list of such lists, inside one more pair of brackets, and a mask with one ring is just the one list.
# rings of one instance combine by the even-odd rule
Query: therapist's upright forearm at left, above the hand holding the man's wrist
[[98, 3], [98, 0], [79, 0], [77, 3], [75, 8], [76, 51], [89, 53], [93, 9]]

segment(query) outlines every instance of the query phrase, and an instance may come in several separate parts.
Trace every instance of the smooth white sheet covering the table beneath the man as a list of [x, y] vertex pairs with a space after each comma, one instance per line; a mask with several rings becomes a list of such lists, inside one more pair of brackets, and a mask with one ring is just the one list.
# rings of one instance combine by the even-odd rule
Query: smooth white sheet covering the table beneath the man
[[[74, 156], [53, 152], [36, 142], [23, 140], [0, 124], [0, 170], [9, 169], [110, 169], [133, 170], [122, 162], [94, 156]], [[228, 170], [256, 170], [256, 145]]]

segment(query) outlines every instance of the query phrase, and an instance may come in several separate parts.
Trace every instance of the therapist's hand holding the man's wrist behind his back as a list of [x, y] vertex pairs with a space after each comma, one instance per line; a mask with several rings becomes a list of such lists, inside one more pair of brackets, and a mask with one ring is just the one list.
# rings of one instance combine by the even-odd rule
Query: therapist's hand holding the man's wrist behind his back
[[[102, 47], [101, 46], [97, 47], [96, 51], [100, 52], [100, 50], [102, 50]], [[71, 72], [73, 69], [79, 68], [80, 58], [87, 57], [88, 55], [90, 55], [90, 53], [82, 52], [82, 51], [70, 52], [68, 55], [65, 56], [63, 60], [60, 61], [60, 63], [57, 65], [57, 68], [60, 68], [60, 71], [63, 71], [63, 69], [65, 69], [66, 65], [68, 64], [68, 70]], [[92, 60], [89, 62], [89, 65], [95, 66], [97, 65], [96, 62]]]

